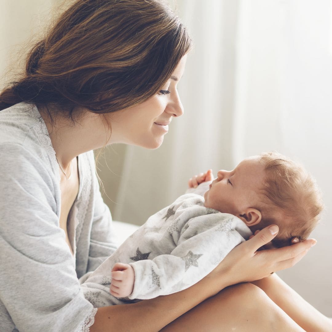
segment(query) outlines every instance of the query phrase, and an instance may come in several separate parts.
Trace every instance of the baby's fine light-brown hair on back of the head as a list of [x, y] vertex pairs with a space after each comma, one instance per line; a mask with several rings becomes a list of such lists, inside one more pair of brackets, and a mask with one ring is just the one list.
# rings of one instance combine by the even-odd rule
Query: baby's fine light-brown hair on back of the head
[[[277, 247], [290, 244], [292, 237], [308, 238], [317, 225], [323, 201], [316, 181], [304, 167], [278, 152], [261, 154], [265, 182], [259, 191], [262, 225], [275, 223], [279, 233], [272, 241]], [[287, 226], [285, 224], [287, 223]]]

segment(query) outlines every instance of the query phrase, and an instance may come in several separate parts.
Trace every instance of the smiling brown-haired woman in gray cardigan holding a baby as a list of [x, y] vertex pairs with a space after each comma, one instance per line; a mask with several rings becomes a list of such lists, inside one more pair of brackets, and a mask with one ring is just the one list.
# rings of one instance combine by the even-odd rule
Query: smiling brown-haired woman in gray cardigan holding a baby
[[239, 284], [293, 266], [315, 244], [257, 252], [277, 226], [175, 294], [94, 309], [80, 290], [115, 250], [91, 150], [160, 146], [183, 113], [176, 85], [190, 48], [161, 1], [79, 0], [31, 50], [22, 78], [2, 91], [2, 331], [194, 331], [198, 322], [204, 331], [303, 331], [259, 287]]

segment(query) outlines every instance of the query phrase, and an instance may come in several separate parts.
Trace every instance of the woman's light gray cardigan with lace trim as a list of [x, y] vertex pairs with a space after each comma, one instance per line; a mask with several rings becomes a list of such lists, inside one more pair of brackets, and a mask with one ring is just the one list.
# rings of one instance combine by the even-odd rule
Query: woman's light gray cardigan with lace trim
[[96, 309], [80, 287], [115, 249], [93, 151], [78, 156], [79, 192], [59, 227], [59, 168], [35, 105], [0, 111], [0, 330], [89, 331]]

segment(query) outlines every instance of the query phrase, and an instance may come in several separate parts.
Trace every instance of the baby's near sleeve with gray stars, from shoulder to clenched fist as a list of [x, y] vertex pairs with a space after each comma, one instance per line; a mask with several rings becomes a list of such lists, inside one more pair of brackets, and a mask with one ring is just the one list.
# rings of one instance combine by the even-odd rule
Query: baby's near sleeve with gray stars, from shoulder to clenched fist
[[[205, 210], [203, 215], [202, 210]], [[242, 220], [232, 214], [202, 206], [190, 207], [186, 209], [188, 212], [201, 215], [189, 219], [182, 227], [177, 246], [171, 254], [130, 263], [135, 273], [130, 299], [172, 294], [194, 285], [251, 234]], [[176, 232], [180, 224], [181, 216], [169, 229]]]

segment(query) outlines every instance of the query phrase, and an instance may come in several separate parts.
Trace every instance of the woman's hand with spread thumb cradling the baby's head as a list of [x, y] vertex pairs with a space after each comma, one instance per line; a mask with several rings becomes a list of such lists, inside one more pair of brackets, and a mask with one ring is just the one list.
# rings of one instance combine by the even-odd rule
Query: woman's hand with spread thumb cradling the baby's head
[[215, 274], [214, 281], [220, 279], [221, 287], [259, 280], [270, 276], [272, 272], [290, 268], [317, 242], [308, 239], [283, 248], [258, 251], [269, 243], [278, 231], [277, 225], [270, 225], [248, 241], [240, 243], [208, 276]]

